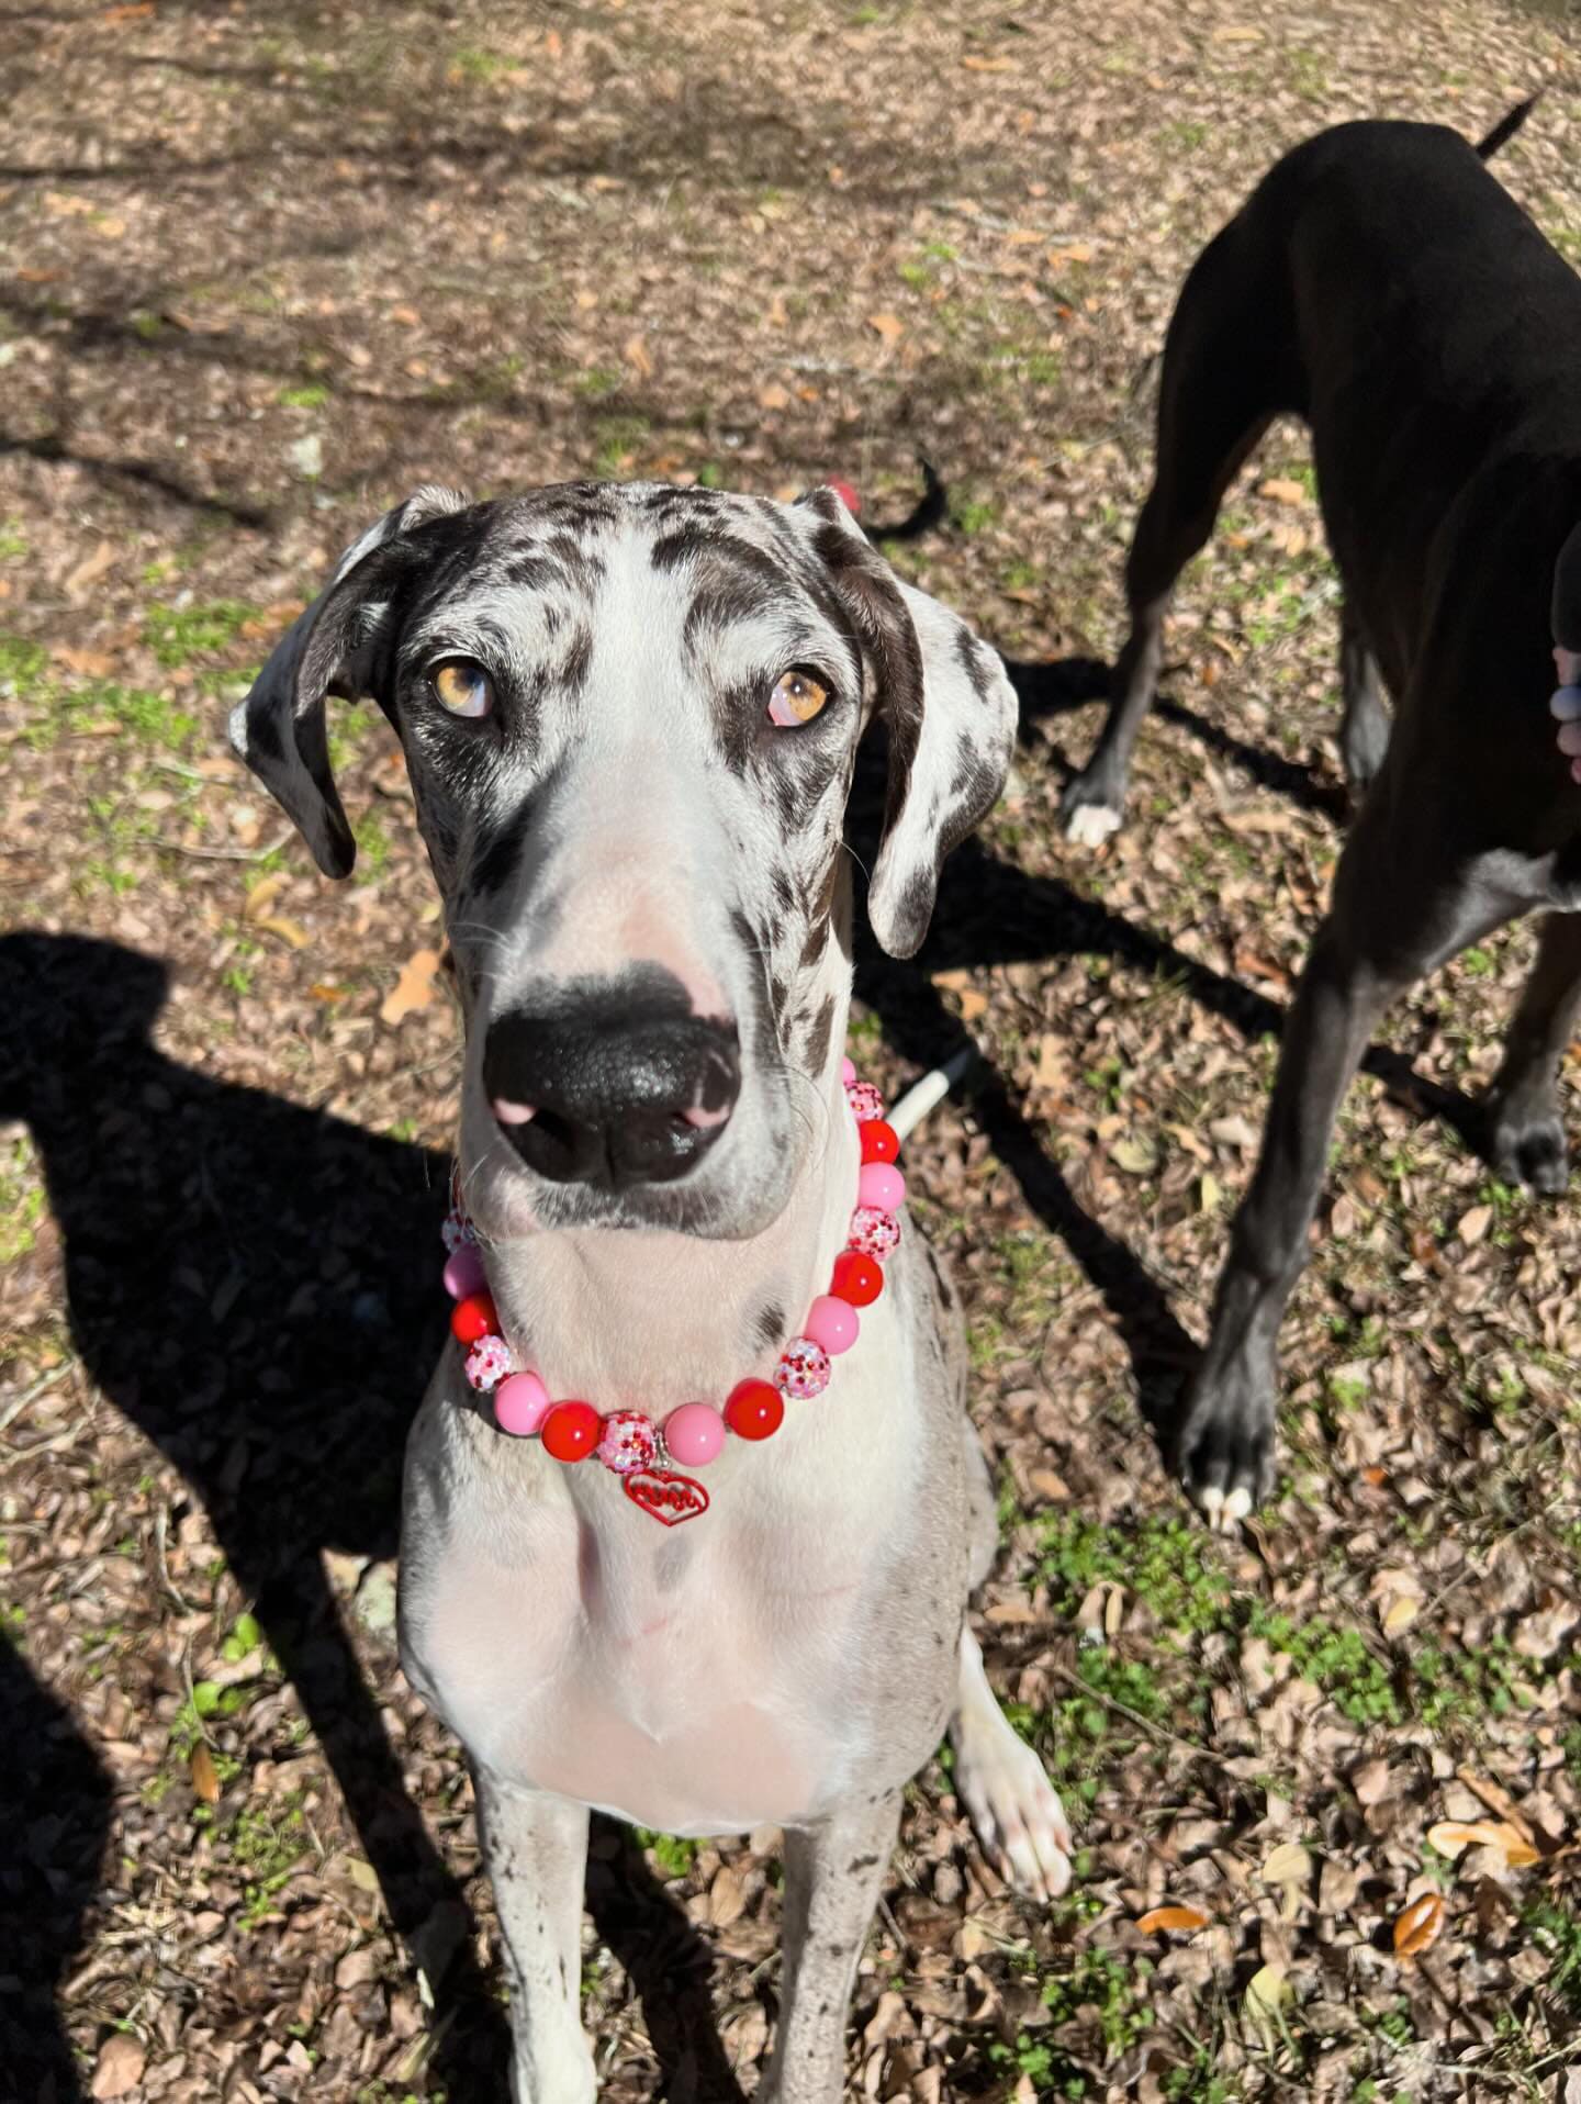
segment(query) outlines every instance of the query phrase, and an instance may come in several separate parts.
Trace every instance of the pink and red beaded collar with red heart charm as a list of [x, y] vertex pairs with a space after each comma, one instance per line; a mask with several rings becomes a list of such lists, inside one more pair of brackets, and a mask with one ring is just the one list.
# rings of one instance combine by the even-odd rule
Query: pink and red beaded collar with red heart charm
[[723, 1410], [713, 1403], [679, 1403], [654, 1424], [641, 1410], [599, 1412], [593, 1403], [549, 1397], [538, 1374], [521, 1368], [500, 1334], [500, 1317], [488, 1290], [477, 1231], [467, 1218], [460, 1182], [452, 1187], [450, 1218], [444, 1225], [448, 1260], [444, 1283], [456, 1302], [450, 1330], [467, 1347], [469, 1384], [494, 1403], [494, 1422], [517, 1439], [538, 1437], [555, 1460], [576, 1462], [593, 1454], [612, 1469], [643, 1513], [666, 1528], [709, 1511], [709, 1492], [696, 1477], [673, 1466], [704, 1469], [725, 1443], [769, 1439], [784, 1420], [784, 1403], [809, 1401], [828, 1387], [830, 1361], [856, 1342], [858, 1309], [883, 1292], [883, 1260], [900, 1241], [900, 1208], [906, 1178], [896, 1168], [900, 1138], [883, 1117], [883, 1096], [870, 1081], [841, 1069], [845, 1100], [862, 1142], [856, 1212], [845, 1248], [835, 1258], [828, 1292], [807, 1309], [801, 1334], [780, 1353], [772, 1380], [738, 1380]]

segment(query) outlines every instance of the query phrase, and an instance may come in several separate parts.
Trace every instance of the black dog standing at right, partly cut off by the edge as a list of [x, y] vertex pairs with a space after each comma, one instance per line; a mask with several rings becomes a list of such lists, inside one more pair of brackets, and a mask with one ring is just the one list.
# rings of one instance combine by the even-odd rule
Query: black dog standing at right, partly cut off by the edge
[[[1261, 1157], [1179, 1433], [1211, 1517], [1270, 1488], [1276, 1340], [1339, 1100], [1383, 1008], [1547, 911], [1488, 1098], [1501, 1176], [1566, 1180], [1558, 1063], [1581, 1008], [1581, 789], [1556, 749], [1556, 640], [1581, 646], [1581, 280], [1436, 124], [1341, 124], [1278, 162], [1203, 250], [1169, 324], [1131, 635], [1076, 837], [1118, 825], [1182, 566], [1268, 423], [1312, 427], [1346, 591], [1343, 751], [1367, 797], [1285, 1033]], [[1552, 608], [1552, 619], [1549, 619]], [[1394, 696], [1390, 720], [1377, 669]]]

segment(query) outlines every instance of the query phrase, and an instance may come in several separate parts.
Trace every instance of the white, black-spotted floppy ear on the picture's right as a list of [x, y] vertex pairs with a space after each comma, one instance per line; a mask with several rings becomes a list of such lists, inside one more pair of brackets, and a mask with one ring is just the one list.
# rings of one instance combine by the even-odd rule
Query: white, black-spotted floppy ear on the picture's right
[[1005, 787], [1015, 690], [999, 652], [938, 600], [902, 583], [833, 490], [809, 490], [801, 505], [822, 520], [814, 547], [862, 640], [889, 734], [868, 919], [891, 957], [910, 957], [927, 934], [944, 856]]

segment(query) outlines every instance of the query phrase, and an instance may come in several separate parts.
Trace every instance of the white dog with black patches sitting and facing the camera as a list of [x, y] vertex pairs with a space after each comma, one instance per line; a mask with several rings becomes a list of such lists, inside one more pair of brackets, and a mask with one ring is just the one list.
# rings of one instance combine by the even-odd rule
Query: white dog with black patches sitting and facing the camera
[[[868, 917], [910, 955], [1009, 766], [999, 659], [833, 490], [423, 488], [233, 717], [345, 875], [332, 692], [376, 696], [406, 749], [467, 1020], [460, 1182], [517, 1359], [601, 1410], [717, 1408], [774, 1368], [851, 1218], [858, 739], [883, 717]], [[826, 1393], [727, 1441], [709, 1511], [666, 1532], [605, 1469], [507, 1437], [446, 1351], [408, 1445], [402, 1660], [473, 1765], [517, 2104], [597, 2087], [589, 1807], [786, 1828], [778, 2104], [841, 2096], [900, 1793], [946, 1727], [990, 1858], [1064, 1887], [1060, 1801], [963, 1620], [997, 1536], [963, 1387], [959, 1304], [908, 1231]]]

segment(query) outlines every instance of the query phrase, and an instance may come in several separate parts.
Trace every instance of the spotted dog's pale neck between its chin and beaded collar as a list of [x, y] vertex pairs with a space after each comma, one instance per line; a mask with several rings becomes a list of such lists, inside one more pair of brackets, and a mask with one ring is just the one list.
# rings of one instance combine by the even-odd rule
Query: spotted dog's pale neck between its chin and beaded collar
[[845, 1246], [860, 1147], [841, 1086], [845, 1004], [809, 1090], [807, 1142], [778, 1218], [751, 1241], [658, 1229], [557, 1229], [486, 1250], [505, 1334], [555, 1397], [662, 1418], [723, 1405], [767, 1376], [828, 1290]]

